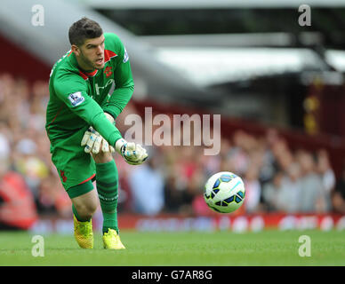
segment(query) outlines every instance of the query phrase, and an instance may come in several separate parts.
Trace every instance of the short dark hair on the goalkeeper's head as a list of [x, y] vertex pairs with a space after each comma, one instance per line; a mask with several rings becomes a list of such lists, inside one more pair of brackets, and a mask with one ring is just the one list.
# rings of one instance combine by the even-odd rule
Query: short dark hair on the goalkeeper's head
[[100, 37], [102, 34], [103, 30], [100, 28], [99, 23], [84, 17], [77, 20], [69, 28], [68, 38], [69, 43], [80, 46], [84, 44], [85, 39]]

